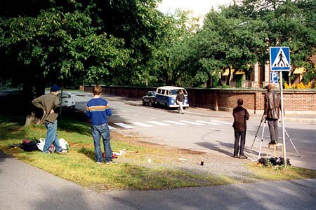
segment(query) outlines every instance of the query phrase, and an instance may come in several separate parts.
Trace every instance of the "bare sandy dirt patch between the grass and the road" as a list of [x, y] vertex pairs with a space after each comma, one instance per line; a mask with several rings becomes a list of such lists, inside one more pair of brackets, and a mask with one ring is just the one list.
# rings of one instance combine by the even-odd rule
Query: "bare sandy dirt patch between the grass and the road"
[[[139, 137], [126, 137], [123, 134], [112, 131], [112, 139], [120, 139], [129, 144], [135, 144], [144, 148], [143, 151], [126, 151], [126, 155], [117, 158], [118, 163], [129, 163], [143, 167], [171, 169], [184, 169], [195, 174], [213, 174], [225, 176], [228, 179], [240, 181], [254, 181], [251, 170], [246, 167], [251, 160], [232, 158], [227, 155], [204, 153], [183, 148], [153, 144], [142, 141]], [[201, 165], [201, 161], [204, 164]]]

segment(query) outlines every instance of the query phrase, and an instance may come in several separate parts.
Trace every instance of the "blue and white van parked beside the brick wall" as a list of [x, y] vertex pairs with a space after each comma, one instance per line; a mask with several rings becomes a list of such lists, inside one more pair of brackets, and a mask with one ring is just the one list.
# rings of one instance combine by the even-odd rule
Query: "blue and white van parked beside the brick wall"
[[167, 108], [178, 107], [176, 104], [176, 97], [179, 90], [183, 90], [185, 95], [185, 102], [183, 103], [183, 107], [189, 106], [189, 97], [187, 96], [187, 90], [183, 87], [175, 87], [175, 86], [163, 86], [157, 87], [156, 90], [156, 104], [166, 106]]

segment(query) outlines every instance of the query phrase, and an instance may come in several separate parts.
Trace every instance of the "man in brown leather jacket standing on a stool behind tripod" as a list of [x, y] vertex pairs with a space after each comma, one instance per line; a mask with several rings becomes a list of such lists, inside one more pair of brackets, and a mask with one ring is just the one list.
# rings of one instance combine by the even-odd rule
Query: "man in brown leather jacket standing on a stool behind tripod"
[[277, 144], [279, 110], [281, 109], [281, 99], [279, 94], [274, 90], [274, 84], [268, 85], [268, 92], [265, 94], [265, 112], [264, 115], [268, 121], [270, 131], [270, 143]]

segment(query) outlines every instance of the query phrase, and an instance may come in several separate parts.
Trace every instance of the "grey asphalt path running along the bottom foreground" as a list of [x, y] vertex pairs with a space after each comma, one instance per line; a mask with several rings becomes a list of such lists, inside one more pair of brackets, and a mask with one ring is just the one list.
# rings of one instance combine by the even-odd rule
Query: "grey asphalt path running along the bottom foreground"
[[95, 193], [0, 153], [0, 209], [315, 209], [316, 179]]

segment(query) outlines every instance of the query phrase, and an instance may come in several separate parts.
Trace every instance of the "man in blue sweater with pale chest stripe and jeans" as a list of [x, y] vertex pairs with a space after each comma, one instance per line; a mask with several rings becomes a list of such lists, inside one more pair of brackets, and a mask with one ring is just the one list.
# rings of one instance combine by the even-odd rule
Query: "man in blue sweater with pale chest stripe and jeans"
[[110, 104], [105, 99], [100, 98], [102, 87], [93, 87], [93, 99], [86, 104], [86, 116], [91, 118], [91, 133], [94, 142], [96, 163], [103, 162], [103, 155], [100, 147], [100, 139], [103, 138], [105, 151], [105, 163], [112, 163], [112, 148], [110, 145], [110, 129], [107, 124], [107, 116], [112, 116]]

